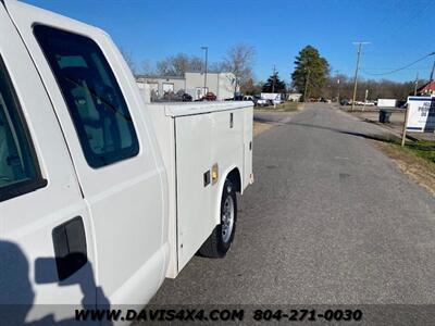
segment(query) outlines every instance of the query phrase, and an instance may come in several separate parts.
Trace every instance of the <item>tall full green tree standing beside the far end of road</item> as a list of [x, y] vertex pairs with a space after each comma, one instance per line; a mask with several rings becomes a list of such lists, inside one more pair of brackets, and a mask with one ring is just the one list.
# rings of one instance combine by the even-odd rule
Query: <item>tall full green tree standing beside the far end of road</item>
[[330, 64], [326, 59], [320, 55], [318, 49], [307, 46], [296, 57], [295, 65], [291, 79], [296, 90], [303, 95], [307, 86], [307, 98], [320, 97], [330, 74]]

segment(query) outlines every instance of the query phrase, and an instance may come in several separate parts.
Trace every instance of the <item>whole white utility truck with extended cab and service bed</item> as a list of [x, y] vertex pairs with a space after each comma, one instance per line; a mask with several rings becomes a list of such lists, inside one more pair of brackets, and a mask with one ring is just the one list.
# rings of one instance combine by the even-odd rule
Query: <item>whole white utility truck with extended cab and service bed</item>
[[251, 102], [146, 104], [103, 30], [0, 0], [0, 310], [146, 304], [252, 179]]

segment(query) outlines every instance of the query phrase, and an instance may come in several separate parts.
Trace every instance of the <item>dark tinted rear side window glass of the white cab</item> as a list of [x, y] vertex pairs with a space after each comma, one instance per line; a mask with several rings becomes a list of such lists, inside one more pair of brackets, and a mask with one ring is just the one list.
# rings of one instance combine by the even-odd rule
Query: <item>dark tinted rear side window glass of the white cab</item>
[[34, 33], [62, 90], [88, 164], [101, 167], [137, 155], [128, 108], [97, 43], [42, 25], [35, 26]]

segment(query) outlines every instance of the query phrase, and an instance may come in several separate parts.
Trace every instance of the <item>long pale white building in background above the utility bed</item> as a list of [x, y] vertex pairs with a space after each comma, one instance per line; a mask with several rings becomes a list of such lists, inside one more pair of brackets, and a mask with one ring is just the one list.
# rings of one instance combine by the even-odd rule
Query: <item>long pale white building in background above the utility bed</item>
[[138, 76], [139, 84], [148, 84], [151, 99], [162, 98], [165, 93], [176, 93], [179, 90], [187, 92], [194, 100], [202, 98], [211, 91], [219, 101], [231, 99], [235, 91], [235, 76], [233, 73], [207, 73], [207, 84], [204, 88], [203, 73], [185, 73], [183, 77], [178, 76]]

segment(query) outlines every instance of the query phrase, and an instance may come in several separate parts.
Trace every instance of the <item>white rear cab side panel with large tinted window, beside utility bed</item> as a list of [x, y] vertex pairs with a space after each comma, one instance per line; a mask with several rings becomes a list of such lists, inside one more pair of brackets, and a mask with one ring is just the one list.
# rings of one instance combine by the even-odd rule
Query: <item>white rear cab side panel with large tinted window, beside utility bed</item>
[[91, 212], [97, 284], [111, 303], [142, 303], [163, 280], [169, 246], [164, 170], [136, 83], [100, 29], [5, 3], [53, 102]]

